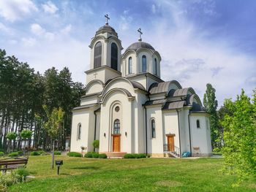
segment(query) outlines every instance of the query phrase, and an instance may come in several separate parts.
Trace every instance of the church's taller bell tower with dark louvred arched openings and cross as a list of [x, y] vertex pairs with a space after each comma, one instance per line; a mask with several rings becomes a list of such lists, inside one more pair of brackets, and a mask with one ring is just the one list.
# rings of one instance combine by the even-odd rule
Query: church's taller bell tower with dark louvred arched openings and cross
[[110, 18], [105, 15], [105, 26], [96, 31], [91, 39], [90, 69], [86, 71], [86, 84], [101, 80], [104, 84], [115, 77], [121, 77], [121, 40], [115, 29], [108, 25]]

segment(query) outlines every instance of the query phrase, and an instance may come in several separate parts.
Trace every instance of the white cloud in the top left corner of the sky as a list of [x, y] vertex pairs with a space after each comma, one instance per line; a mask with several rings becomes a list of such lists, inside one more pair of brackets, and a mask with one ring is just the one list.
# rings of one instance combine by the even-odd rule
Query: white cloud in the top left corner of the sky
[[35, 11], [37, 11], [37, 6], [31, 0], [0, 1], [0, 15], [6, 20], [20, 20]]

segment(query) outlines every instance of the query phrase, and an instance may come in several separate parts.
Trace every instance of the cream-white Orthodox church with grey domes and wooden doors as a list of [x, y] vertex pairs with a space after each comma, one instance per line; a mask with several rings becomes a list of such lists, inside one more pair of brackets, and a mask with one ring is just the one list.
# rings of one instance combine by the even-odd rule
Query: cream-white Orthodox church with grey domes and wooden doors
[[105, 17], [89, 45], [86, 93], [72, 110], [70, 151], [80, 152], [81, 146], [94, 151], [93, 142], [99, 140], [97, 150], [109, 157], [211, 155], [209, 115], [194, 89], [162, 80], [161, 55], [141, 36], [122, 53], [121, 40]]

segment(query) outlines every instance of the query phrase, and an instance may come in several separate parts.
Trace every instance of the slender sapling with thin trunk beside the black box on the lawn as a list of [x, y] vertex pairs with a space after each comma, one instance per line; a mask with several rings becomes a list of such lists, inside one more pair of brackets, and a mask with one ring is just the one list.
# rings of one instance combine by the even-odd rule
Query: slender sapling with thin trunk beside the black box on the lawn
[[48, 107], [46, 105], [43, 106], [45, 113], [47, 115], [47, 120], [44, 123], [44, 127], [46, 131], [48, 132], [48, 135], [50, 136], [51, 142], [52, 142], [52, 169], [54, 168], [54, 147], [55, 147], [55, 139], [59, 134], [59, 131], [61, 130], [61, 125], [63, 123], [64, 119], [64, 111], [59, 108], [53, 108], [53, 110], [50, 112], [48, 110]]

